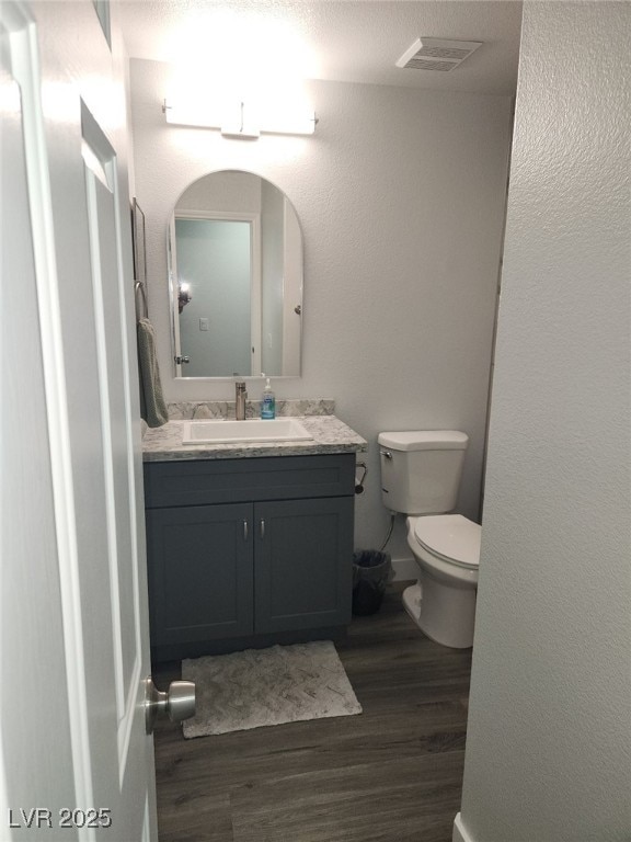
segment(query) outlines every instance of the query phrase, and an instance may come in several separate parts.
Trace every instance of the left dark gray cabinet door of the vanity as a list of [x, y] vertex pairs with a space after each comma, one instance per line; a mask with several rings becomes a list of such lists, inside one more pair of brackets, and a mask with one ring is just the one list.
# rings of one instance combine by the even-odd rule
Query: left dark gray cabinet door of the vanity
[[151, 644], [252, 634], [252, 505], [147, 511]]

